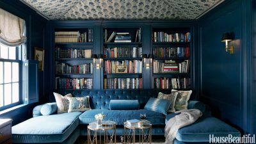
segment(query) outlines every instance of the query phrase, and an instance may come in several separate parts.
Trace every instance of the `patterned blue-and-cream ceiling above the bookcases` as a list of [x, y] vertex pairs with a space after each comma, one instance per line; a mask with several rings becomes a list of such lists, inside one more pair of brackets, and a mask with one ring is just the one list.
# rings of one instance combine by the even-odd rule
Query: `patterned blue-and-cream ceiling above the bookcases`
[[51, 20], [189, 20], [223, 0], [20, 0]]

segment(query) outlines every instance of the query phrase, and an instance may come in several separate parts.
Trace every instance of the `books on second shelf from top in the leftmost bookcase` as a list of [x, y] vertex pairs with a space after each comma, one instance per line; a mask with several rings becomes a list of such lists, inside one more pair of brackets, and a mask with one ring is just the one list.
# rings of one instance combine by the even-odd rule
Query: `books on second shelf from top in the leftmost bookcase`
[[56, 58], [92, 58], [92, 49], [61, 49], [55, 48]]

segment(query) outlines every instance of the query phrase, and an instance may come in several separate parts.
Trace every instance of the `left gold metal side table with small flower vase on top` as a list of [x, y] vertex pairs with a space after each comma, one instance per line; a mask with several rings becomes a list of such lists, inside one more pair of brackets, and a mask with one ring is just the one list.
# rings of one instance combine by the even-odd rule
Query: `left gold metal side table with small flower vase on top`
[[[91, 136], [91, 133], [93, 134]], [[92, 122], [87, 126], [88, 144], [97, 144], [97, 135], [99, 134], [99, 143], [101, 144], [101, 135], [104, 135], [104, 144], [116, 144], [116, 123], [113, 121], [102, 121], [102, 126], [97, 122]]]

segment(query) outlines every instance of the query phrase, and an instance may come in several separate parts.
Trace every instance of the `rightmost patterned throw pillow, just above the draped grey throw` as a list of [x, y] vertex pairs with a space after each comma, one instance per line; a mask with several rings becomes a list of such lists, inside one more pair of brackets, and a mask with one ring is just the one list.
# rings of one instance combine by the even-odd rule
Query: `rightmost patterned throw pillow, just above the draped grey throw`
[[172, 93], [173, 92], [178, 92], [178, 95], [176, 97], [175, 104], [174, 104], [175, 110], [179, 111], [183, 109], [188, 109], [188, 100], [192, 93], [192, 90], [189, 90], [189, 91], [172, 90]]

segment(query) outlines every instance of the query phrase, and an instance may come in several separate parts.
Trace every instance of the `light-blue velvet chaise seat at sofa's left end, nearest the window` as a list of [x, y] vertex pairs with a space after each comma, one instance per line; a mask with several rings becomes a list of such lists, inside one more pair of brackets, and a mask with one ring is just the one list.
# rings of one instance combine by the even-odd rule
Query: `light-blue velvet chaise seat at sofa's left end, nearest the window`
[[12, 127], [13, 143], [61, 143], [79, 125], [81, 112], [36, 116]]

